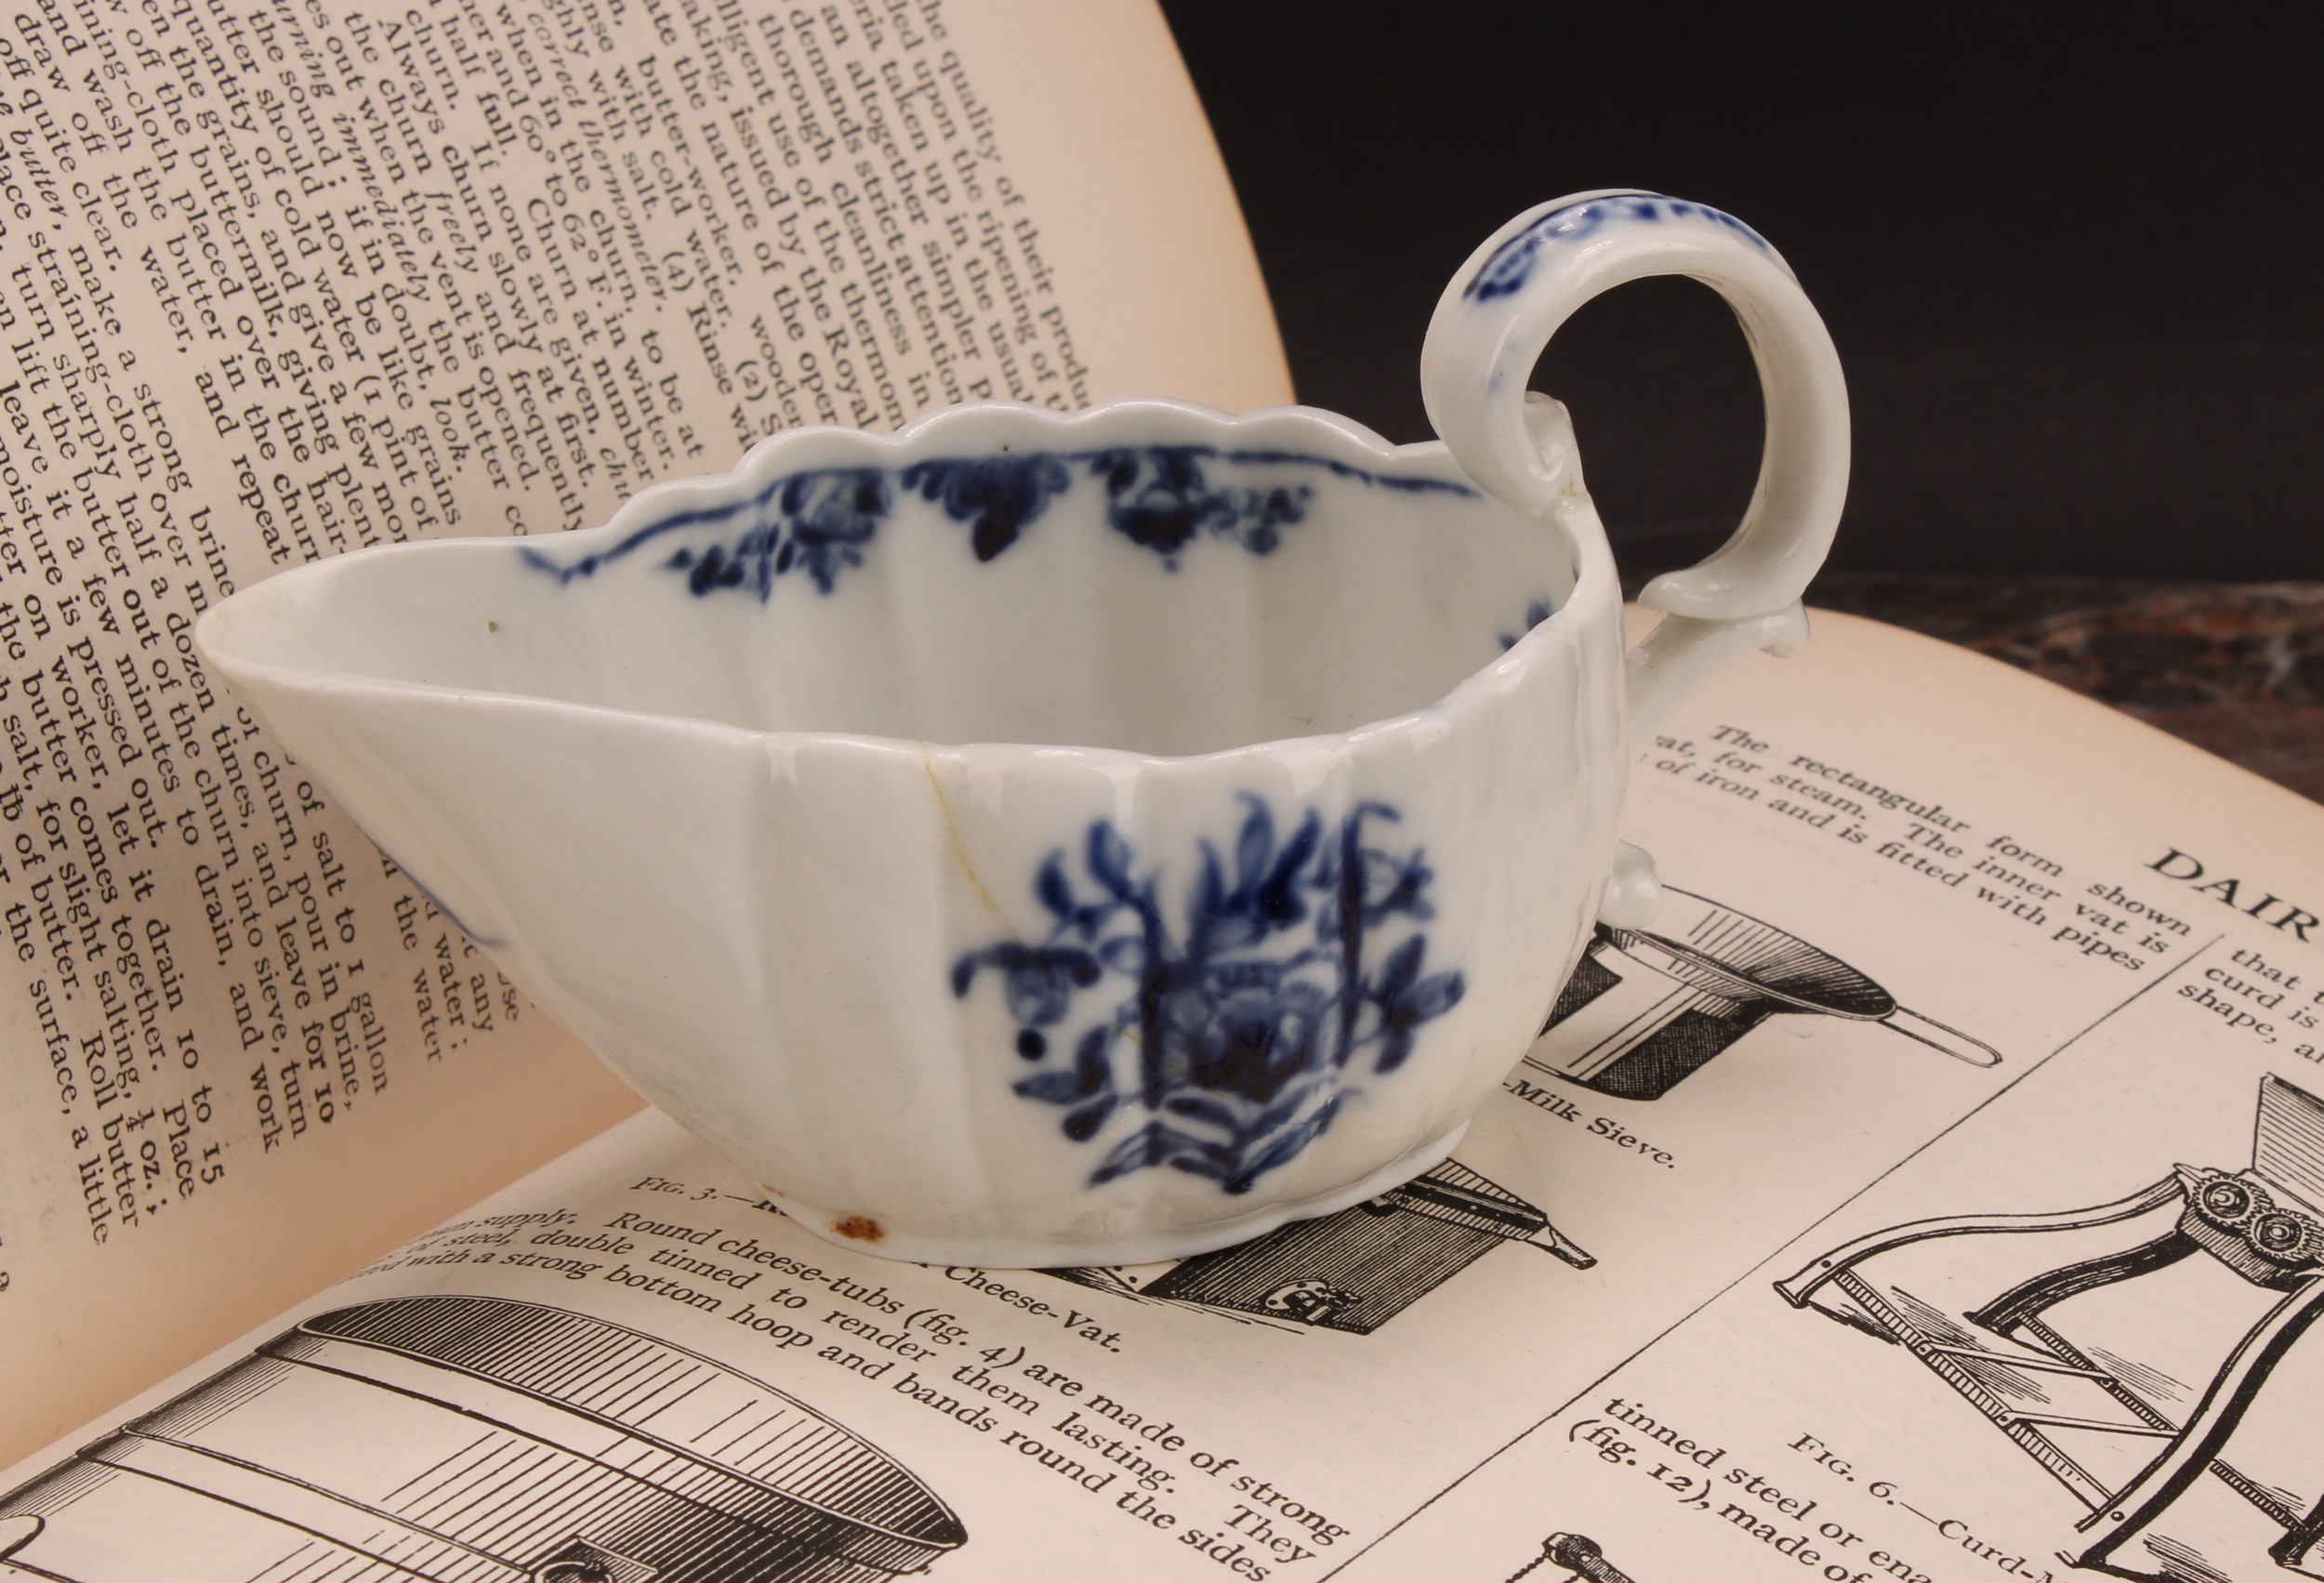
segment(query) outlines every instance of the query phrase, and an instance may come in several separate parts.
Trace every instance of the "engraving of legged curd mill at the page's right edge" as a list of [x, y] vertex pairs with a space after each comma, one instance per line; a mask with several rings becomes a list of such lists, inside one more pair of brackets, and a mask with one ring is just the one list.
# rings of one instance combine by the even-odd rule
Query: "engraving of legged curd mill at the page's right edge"
[[2066, 1562], [2324, 1578], [2324, 1099], [2308, 1090], [2259, 1083], [2247, 1167], [1894, 1225], [1776, 1290], [1913, 1353], [2064, 1485]]

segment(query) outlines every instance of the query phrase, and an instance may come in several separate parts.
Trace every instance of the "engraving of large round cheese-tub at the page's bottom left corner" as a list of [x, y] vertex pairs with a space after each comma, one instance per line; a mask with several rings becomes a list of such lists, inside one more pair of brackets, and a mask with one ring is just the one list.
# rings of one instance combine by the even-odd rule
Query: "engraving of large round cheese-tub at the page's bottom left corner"
[[46, 1583], [885, 1583], [967, 1541], [876, 1446], [567, 1309], [318, 1313], [0, 1495]]

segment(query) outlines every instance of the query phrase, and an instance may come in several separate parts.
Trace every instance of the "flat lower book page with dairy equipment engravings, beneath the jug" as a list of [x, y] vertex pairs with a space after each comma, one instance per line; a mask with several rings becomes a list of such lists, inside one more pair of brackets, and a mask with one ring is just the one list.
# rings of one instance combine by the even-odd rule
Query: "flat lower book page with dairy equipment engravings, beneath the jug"
[[[878, 1564], [962, 1583], [2287, 1576], [2271, 1546], [2324, 1492], [2296, 1351], [2319, 830], [2047, 683], [1820, 616], [1643, 760], [1657, 923], [1601, 934], [1452, 1160], [1371, 1204], [1171, 1265], [923, 1269], [811, 1239], [641, 1116], [23, 1464], [0, 1523], [42, 1518], [35, 1576], [253, 1513], [218, 1576], [279, 1562], [267, 1523], [681, 1576], [614, 1516], [660, 1497], [581, 1455], [765, 1478], [844, 1513], [830, 1546], [909, 1516]], [[630, 1439], [583, 1446], [574, 1413]], [[809, 1441], [834, 1483], [786, 1462]], [[2087, 1504], [2173, 1446], [2192, 1476]], [[532, 1476], [607, 1492], [460, 1527]], [[2075, 1571], [2092, 1513], [2129, 1537]], [[765, 1525], [704, 1553], [792, 1532]]]

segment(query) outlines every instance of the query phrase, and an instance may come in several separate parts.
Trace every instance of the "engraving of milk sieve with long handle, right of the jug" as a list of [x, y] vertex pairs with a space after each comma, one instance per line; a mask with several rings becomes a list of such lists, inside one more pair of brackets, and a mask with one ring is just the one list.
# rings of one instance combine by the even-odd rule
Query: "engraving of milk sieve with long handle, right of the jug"
[[1908, 1011], [1820, 946], [1690, 890], [1652, 930], [1599, 925], [1525, 1062], [1618, 1099], [1659, 1099], [1783, 1013], [1880, 1023], [1971, 1067], [2001, 1051]]

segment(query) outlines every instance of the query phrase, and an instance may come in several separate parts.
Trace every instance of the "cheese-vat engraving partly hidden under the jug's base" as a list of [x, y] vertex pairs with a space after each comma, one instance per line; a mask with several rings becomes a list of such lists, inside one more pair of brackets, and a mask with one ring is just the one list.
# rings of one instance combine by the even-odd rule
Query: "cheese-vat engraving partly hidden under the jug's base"
[[1053, 1269], [1102, 1292], [1371, 1334], [1504, 1244], [1597, 1260], [1522, 1197], [1446, 1160], [1355, 1209], [1167, 1265]]

